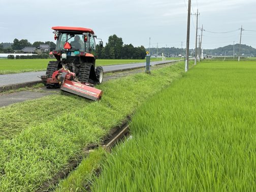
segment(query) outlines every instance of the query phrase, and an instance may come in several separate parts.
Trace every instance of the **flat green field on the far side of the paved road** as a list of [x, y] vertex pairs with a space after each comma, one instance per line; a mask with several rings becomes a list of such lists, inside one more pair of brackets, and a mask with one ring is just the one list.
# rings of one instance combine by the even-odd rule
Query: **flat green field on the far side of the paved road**
[[[50, 60], [55, 59], [0, 59], [0, 75], [45, 71]], [[160, 61], [161, 58], [157, 60]], [[156, 58], [151, 58], [151, 61], [156, 61]], [[97, 59], [96, 65], [109, 66], [136, 62], [146, 62], [146, 59]]]

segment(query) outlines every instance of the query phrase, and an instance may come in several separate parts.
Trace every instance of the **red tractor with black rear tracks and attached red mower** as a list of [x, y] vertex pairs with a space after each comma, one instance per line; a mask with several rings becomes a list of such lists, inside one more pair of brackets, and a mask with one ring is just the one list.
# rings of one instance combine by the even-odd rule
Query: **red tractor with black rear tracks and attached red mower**
[[[103, 91], [94, 88], [102, 83], [103, 69], [95, 67], [96, 45], [92, 29], [55, 26], [56, 49], [50, 52], [57, 59], [50, 61], [46, 75], [41, 76], [47, 88], [59, 88], [82, 97], [99, 100]], [[100, 41], [100, 47], [103, 42]]]

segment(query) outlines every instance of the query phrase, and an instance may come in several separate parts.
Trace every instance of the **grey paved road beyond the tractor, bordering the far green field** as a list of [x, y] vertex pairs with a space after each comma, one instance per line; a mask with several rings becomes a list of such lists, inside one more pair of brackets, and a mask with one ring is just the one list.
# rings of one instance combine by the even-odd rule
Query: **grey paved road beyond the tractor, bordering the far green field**
[[[165, 60], [165, 61], [150, 62], [150, 65], [154, 66], [156, 64], [159, 65], [159, 64], [175, 62], [175, 61], [177, 61], [177, 60]], [[144, 67], [144, 66], [146, 66], [145, 62], [123, 64], [123, 65], [113, 65], [113, 66], [103, 66], [103, 71], [104, 72], [113, 72], [116, 70], [133, 69], [133, 68]], [[41, 75], [45, 75], [45, 71], [0, 75], [0, 86], [17, 84], [17, 83], [25, 83], [25, 82], [30, 82], [30, 81], [38, 81], [38, 80], [40, 80], [39, 77]]]

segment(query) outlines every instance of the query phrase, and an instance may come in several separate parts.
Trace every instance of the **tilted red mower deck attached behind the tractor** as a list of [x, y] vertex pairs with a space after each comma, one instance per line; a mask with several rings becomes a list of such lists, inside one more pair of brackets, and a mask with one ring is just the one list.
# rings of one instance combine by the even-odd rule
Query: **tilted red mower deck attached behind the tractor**
[[69, 80], [64, 80], [60, 89], [73, 94], [77, 94], [81, 97], [84, 97], [93, 101], [100, 100], [103, 94], [103, 91], [100, 89], [90, 87], [79, 82], [69, 81]]

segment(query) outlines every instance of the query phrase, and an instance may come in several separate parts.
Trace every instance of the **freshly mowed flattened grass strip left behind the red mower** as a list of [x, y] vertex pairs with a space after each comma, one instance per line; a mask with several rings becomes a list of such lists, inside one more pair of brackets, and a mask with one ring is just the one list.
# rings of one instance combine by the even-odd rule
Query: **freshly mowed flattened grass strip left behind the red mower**
[[[79, 97], [51, 95], [2, 107], [0, 108], [0, 140], [12, 139], [29, 126], [56, 119], [69, 111], [67, 105], [83, 108], [88, 103], [90, 102]], [[75, 110], [77, 108], [73, 111]]]

